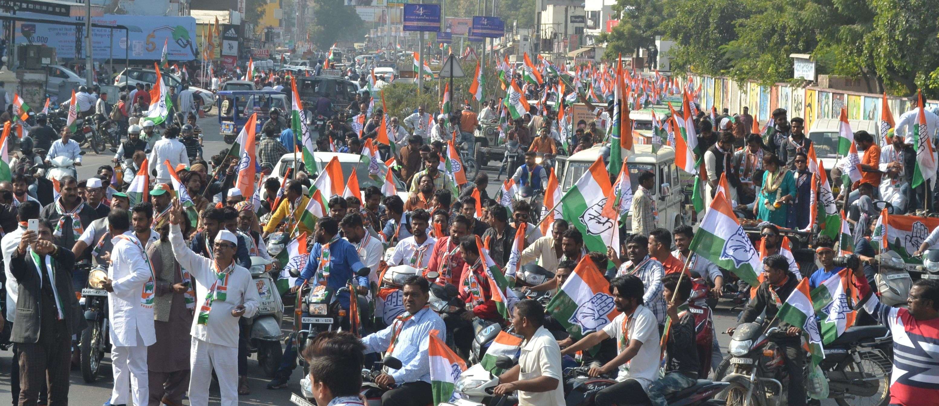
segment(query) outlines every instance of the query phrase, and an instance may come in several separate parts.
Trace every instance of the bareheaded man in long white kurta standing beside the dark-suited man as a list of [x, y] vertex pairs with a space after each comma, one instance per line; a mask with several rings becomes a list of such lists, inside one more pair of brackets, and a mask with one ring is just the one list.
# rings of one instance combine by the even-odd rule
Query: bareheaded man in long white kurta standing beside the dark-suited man
[[108, 215], [108, 229], [116, 235], [111, 240], [114, 248], [104, 285], [109, 292], [113, 405], [130, 403], [131, 393], [133, 404], [149, 402], [146, 347], [157, 340], [153, 329], [153, 271], [146, 263], [144, 246], [132, 231], [128, 232], [130, 225], [127, 210], [115, 209]]

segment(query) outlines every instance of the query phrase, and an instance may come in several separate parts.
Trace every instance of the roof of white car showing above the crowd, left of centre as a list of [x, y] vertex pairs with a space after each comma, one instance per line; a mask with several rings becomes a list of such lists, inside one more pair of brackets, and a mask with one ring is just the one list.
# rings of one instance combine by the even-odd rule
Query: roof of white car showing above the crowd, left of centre
[[[300, 165], [303, 165], [303, 156], [297, 154], [285, 154], [281, 159], [274, 165], [274, 170], [271, 172], [271, 175], [277, 176], [278, 181], [284, 180], [284, 175], [287, 172], [287, 168], [294, 167], [294, 157], [300, 160]], [[330, 163], [330, 160], [333, 158], [339, 158], [339, 166], [343, 169], [343, 184], [346, 184], [349, 179], [349, 175], [352, 174], [352, 168], [355, 168], [356, 177], [359, 178], [359, 189], [362, 190], [362, 193], [365, 192], [365, 188], [370, 186], [375, 186], [381, 188], [385, 182], [385, 173], [388, 172], [388, 167], [385, 166], [384, 162], [378, 162], [378, 175], [370, 175], [368, 173], [368, 162], [362, 161], [362, 156], [358, 154], [346, 154], [342, 152], [314, 152], [313, 158], [316, 160], [316, 164], [319, 166], [320, 171], [326, 168], [326, 165]], [[302, 166], [301, 166], [302, 168]], [[408, 200], [408, 187], [405, 186], [405, 183], [402, 182], [397, 176], [392, 175], [394, 188], [397, 190], [398, 197], [402, 201]], [[364, 196], [359, 197], [360, 200], [364, 200]]]

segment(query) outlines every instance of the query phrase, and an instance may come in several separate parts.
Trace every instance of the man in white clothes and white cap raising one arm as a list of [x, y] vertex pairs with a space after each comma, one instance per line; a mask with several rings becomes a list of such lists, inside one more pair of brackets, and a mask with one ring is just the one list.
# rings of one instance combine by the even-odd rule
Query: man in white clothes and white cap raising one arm
[[208, 405], [208, 385], [215, 368], [222, 406], [237, 406], [238, 322], [242, 316], [254, 316], [260, 297], [251, 273], [235, 263], [238, 237], [227, 230], [219, 231], [215, 236], [214, 259], [208, 259], [192, 252], [183, 240], [179, 230], [183, 216], [179, 202], [174, 200], [170, 210], [170, 244], [179, 265], [195, 280], [189, 402], [192, 406]]

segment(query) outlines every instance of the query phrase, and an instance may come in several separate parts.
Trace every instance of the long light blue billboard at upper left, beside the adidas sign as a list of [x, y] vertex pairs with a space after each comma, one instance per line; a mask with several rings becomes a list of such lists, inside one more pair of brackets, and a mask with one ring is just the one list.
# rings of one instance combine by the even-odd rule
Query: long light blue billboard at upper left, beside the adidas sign
[[[121, 29], [115, 29], [112, 32], [107, 28], [92, 28], [91, 49], [95, 59], [110, 57], [124, 59], [127, 50], [131, 59], [159, 61], [164, 40], [167, 43], [170, 60], [191, 61], [199, 56], [195, 43], [197, 40], [195, 19], [192, 17], [105, 14], [100, 18], [93, 17], [91, 22], [102, 25], [126, 25], [131, 31], [131, 38], [126, 38], [125, 31]], [[17, 23], [16, 25], [14, 43], [54, 47], [59, 58], [75, 57], [74, 26], [54, 23]]]

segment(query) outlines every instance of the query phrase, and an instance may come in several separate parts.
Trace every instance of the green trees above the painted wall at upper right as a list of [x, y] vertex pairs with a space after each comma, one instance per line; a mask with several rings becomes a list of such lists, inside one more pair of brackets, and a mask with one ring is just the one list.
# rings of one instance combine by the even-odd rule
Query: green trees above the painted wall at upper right
[[[869, 79], [871, 92], [939, 97], [939, 8], [934, 0], [619, 0], [607, 55], [633, 54], [655, 35], [676, 42], [672, 68], [785, 82], [790, 53], [820, 74]], [[611, 52], [612, 51], [612, 52]]]

